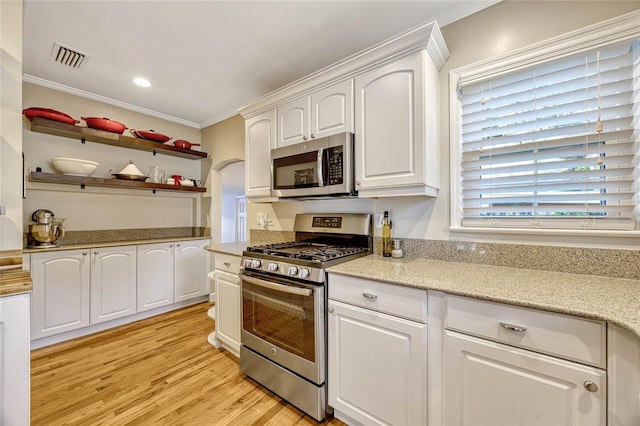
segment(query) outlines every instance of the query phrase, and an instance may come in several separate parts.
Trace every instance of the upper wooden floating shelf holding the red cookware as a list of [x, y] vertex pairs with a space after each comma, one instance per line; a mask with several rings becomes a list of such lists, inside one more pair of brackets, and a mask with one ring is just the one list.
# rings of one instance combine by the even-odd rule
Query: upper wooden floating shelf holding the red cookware
[[157, 153], [163, 155], [171, 155], [174, 157], [188, 158], [191, 160], [201, 160], [203, 158], [207, 158], [206, 152], [178, 148], [173, 145], [165, 145], [160, 142], [153, 142], [145, 139], [124, 136], [113, 132], [105, 132], [104, 130], [92, 129], [90, 127], [61, 123], [59, 121], [49, 120], [42, 117], [33, 117], [33, 120], [31, 120], [31, 131], [46, 133], [48, 135], [79, 139], [81, 141], [90, 141], [119, 146], [122, 148], [149, 151], [153, 152], [154, 155]]

